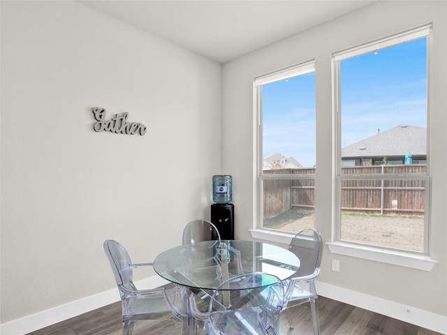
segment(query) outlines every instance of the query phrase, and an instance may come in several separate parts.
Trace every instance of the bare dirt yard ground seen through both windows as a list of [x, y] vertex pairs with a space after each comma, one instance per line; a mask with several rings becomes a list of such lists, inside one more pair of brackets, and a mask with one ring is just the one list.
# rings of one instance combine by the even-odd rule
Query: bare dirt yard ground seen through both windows
[[[314, 227], [314, 212], [290, 209], [264, 220], [265, 228], [287, 232]], [[342, 214], [342, 240], [423, 251], [423, 216]]]

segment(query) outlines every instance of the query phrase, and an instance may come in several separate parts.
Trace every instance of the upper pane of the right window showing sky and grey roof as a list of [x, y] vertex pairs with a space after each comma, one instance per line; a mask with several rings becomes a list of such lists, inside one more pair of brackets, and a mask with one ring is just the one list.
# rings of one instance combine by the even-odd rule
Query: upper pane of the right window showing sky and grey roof
[[427, 158], [427, 38], [341, 61], [342, 162]]

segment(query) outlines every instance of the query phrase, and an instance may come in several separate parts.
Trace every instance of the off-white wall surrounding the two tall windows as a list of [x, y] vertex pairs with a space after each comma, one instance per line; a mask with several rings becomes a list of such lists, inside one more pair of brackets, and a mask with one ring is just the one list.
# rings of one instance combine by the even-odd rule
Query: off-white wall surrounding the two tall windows
[[[447, 316], [447, 2], [378, 1], [338, 20], [281, 40], [222, 68], [222, 167], [233, 174], [236, 237], [249, 239], [254, 204], [253, 78], [316, 59], [317, 181], [315, 226], [326, 241], [332, 236], [332, 91], [331, 54], [400, 31], [433, 22], [434, 57], [431, 64], [432, 271], [420, 271], [379, 262], [331, 255], [325, 247], [319, 281], [356, 291], [363, 296], [395, 301], [402, 306]], [[237, 148], [237, 149], [235, 149]], [[330, 271], [332, 258], [339, 273]], [[411, 317], [410, 317], [411, 318]], [[445, 320], [445, 319], [444, 319]], [[446, 329], [447, 332], [447, 329]]]

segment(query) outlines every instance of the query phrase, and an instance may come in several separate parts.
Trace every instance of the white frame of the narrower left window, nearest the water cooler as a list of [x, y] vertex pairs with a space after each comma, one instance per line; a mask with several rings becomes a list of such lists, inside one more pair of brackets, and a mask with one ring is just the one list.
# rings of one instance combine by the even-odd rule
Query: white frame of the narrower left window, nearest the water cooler
[[[290, 77], [298, 77], [300, 75], [306, 75], [309, 73], [315, 73], [315, 59], [305, 61], [300, 64], [282, 68], [280, 70], [267, 73], [254, 78], [253, 82], [253, 96], [254, 96], [254, 113], [256, 115], [256, 196], [254, 197], [254, 210], [255, 210], [255, 223], [254, 230], [251, 230], [252, 235], [255, 238], [263, 238], [264, 234], [273, 234], [277, 237], [275, 241], [283, 243], [287, 240], [287, 244], [290, 242], [290, 237], [293, 234], [286, 231], [274, 230], [263, 227], [263, 184], [265, 180], [315, 180], [316, 174], [263, 174], [263, 101], [262, 101], [262, 89], [264, 84], [270, 84], [272, 82], [279, 82], [286, 80]], [[315, 88], [316, 89], [316, 88]], [[270, 235], [272, 236], [272, 235]]]

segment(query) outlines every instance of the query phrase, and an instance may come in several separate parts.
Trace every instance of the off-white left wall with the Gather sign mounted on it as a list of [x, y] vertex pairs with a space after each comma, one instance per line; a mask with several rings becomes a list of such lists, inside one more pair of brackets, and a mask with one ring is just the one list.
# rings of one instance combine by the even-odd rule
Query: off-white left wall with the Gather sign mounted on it
[[[116, 288], [105, 239], [150, 261], [209, 218], [220, 82], [220, 64], [80, 3], [1, 1], [0, 323]], [[94, 132], [96, 106], [147, 133]]]

